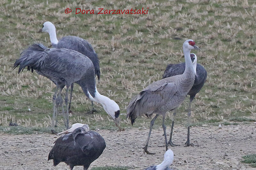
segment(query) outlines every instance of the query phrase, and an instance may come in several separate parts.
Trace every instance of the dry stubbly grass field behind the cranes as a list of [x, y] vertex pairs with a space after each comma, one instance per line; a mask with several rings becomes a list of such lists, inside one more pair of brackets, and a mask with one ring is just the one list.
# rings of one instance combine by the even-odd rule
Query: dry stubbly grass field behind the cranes
[[[75, 14], [76, 8], [148, 8], [148, 14]], [[88, 40], [99, 55], [101, 80], [97, 89], [115, 100], [121, 109], [123, 127], [131, 98], [159, 80], [168, 63], [184, 62], [182, 43], [193, 39], [202, 51], [198, 63], [208, 72], [203, 89], [192, 105], [193, 125], [236, 124], [256, 121], [256, 4], [254, 0], [172, 1], [56, 1], [2, 0], [0, 13], [0, 132], [47, 131], [52, 117], [55, 85], [36, 72], [12, 71], [22, 50], [34, 42], [50, 46], [47, 33], [37, 33], [51, 21], [57, 38], [75, 35]], [[73, 11], [66, 14], [70, 8]], [[99, 113], [85, 115], [91, 108], [78, 85], [74, 86], [70, 124], [83, 122], [91, 129], [116, 129], [100, 105]], [[175, 119], [186, 124], [188, 98]], [[30, 111], [29, 111], [30, 110]], [[171, 124], [172, 113], [166, 124]], [[10, 120], [24, 130], [7, 128]], [[138, 118], [135, 127], [149, 126]], [[156, 127], [161, 125], [161, 119]], [[59, 117], [60, 129], [64, 126]]]

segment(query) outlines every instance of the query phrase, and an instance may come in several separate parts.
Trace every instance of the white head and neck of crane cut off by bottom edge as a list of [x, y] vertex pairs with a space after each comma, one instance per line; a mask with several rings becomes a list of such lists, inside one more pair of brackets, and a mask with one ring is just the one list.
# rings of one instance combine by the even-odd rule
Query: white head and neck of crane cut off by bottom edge
[[173, 157], [173, 152], [169, 149], [164, 153], [164, 161], [161, 164], [150, 166], [144, 170], [171, 170], [169, 166], [172, 164]]

